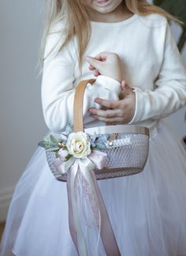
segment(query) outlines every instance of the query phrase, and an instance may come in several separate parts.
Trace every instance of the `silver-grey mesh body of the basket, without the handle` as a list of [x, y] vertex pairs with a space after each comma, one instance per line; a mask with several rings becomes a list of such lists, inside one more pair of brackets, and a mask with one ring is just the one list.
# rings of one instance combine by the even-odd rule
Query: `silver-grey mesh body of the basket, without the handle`
[[[115, 139], [106, 141], [106, 149], [102, 149], [102, 152], [107, 154], [106, 164], [102, 170], [95, 169], [96, 179], [134, 175], [143, 171], [148, 156], [149, 136], [147, 133], [135, 133], [143, 127], [121, 126], [120, 128], [125, 130], [125, 127], [127, 130], [131, 129], [132, 133], [115, 133]], [[86, 132], [88, 133], [88, 129]], [[57, 160], [54, 152], [47, 152], [47, 160], [55, 178], [65, 182], [67, 173], [61, 174], [54, 168], [54, 161]]]

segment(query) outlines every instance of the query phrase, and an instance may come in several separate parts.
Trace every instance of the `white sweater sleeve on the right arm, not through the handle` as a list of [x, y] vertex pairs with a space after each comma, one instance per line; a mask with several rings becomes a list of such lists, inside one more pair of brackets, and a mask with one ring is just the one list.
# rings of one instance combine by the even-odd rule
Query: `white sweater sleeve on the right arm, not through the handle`
[[165, 118], [186, 104], [186, 72], [168, 22], [162, 66], [154, 88], [135, 88], [136, 111], [129, 124]]

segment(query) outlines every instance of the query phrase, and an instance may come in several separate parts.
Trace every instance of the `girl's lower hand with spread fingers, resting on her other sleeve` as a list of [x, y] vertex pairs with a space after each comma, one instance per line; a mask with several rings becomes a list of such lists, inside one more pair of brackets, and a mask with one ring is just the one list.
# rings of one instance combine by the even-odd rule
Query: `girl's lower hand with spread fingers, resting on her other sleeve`
[[100, 104], [102, 108], [89, 108], [91, 116], [106, 122], [107, 125], [130, 122], [135, 114], [136, 95], [132, 88], [125, 84], [125, 81], [121, 82], [121, 88], [120, 100], [96, 98], [95, 102]]

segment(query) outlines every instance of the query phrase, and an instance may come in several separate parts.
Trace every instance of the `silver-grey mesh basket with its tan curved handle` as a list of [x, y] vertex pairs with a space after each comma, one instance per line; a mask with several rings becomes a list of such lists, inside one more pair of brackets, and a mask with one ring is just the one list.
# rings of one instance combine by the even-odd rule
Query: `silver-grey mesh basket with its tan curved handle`
[[[91, 85], [95, 80], [81, 81], [76, 87], [76, 95], [74, 100], [74, 131], [84, 131], [89, 136], [93, 134], [113, 134], [113, 139], [106, 141], [107, 160], [102, 170], [95, 169], [96, 179], [110, 179], [126, 175], [135, 175], [143, 168], [147, 161], [149, 149], [149, 130], [147, 127], [116, 125], [116, 126], [100, 126], [84, 130], [83, 126], [83, 97], [84, 89], [88, 83]], [[58, 137], [60, 135], [58, 134]], [[56, 155], [54, 152], [46, 152], [47, 161], [50, 170], [55, 178], [60, 181], [66, 181], [67, 173], [61, 174], [54, 168]]]

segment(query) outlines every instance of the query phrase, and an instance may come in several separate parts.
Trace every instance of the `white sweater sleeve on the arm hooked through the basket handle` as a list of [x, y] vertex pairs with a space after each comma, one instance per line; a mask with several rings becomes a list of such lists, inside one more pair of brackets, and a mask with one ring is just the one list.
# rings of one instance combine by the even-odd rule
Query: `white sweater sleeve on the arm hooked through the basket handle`
[[[75, 94], [74, 49], [67, 45], [58, 53], [59, 38], [58, 33], [48, 36], [44, 54], [41, 89], [45, 122], [48, 128], [56, 133], [64, 130], [68, 123], [73, 126], [73, 100]], [[57, 47], [55, 47], [56, 44]], [[84, 93], [84, 124], [94, 120], [89, 115], [88, 108], [99, 108], [99, 104], [94, 101], [96, 97], [104, 96], [107, 100], [117, 100], [120, 90], [121, 85], [118, 81], [105, 76], [99, 76], [93, 86], [87, 85]]]

